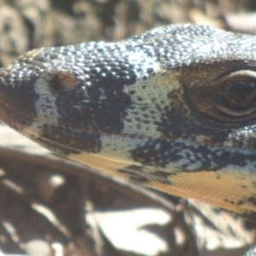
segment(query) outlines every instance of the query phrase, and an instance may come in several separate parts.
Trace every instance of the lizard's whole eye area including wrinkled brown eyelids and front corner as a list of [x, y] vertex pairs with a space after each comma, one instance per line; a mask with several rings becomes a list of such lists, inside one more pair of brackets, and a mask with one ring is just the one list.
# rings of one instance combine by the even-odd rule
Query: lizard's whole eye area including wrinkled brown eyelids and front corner
[[[200, 84], [200, 83], [199, 83]], [[191, 86], [189, 100], [211, 119], [241, 124], [256, 118], [256, 71], [240, 70], [200, 85]]]

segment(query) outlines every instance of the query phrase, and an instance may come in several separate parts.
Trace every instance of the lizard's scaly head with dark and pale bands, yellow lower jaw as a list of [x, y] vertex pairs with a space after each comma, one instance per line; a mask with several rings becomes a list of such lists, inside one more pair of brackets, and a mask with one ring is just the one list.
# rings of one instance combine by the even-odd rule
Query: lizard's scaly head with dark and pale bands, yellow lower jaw
[[185, 24], [33, 49], [0, 69], [0, 119], [110, 176], [255, 218], [255, 42]]

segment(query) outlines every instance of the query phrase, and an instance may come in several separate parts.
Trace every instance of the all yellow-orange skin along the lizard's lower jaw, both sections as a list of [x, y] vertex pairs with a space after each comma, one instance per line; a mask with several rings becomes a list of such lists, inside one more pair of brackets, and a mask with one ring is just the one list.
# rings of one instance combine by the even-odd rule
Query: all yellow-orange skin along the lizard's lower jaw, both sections
[[[112, 160], [96, 154], [71, 154], [69, 157], [95, 168], [112, 177], [128, 180], [131, 176], [118, 172], [137, 163], [130, 160]], [[153, 173], [154, 169], [144, 167], [143, 171]], [[241, 172], [175, 172], [170, 175], [170, 184], [148, 180], [144, 185], [171, 195], [205, 202], [213, 207], [223, 208], [238, 214], [256, 212], [256, 176]], [[255, 203], [252, 202], [255, 198]], [[250, 201], [251, 200], [251, 201]]]

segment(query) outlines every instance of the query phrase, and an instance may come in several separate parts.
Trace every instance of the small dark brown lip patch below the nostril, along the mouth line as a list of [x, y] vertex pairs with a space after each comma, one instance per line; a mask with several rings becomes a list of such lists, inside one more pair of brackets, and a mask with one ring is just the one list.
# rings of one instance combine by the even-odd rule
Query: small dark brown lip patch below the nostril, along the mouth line
[[71, 131], [51, 125], [43, 125], [41, 139], [45, 147], [61, 154], [98, 153], [102, 149], [99, 134]]

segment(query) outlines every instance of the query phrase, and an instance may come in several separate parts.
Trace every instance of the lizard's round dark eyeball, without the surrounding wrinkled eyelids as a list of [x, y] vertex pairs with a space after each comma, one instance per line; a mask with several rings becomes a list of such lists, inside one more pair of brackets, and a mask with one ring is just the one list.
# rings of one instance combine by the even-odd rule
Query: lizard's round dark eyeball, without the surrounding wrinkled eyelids
[[231, 79], [224, 84], [222, 97], [229, 108], [246, 108], [253, 102], [255, 84], [249, 79]]

